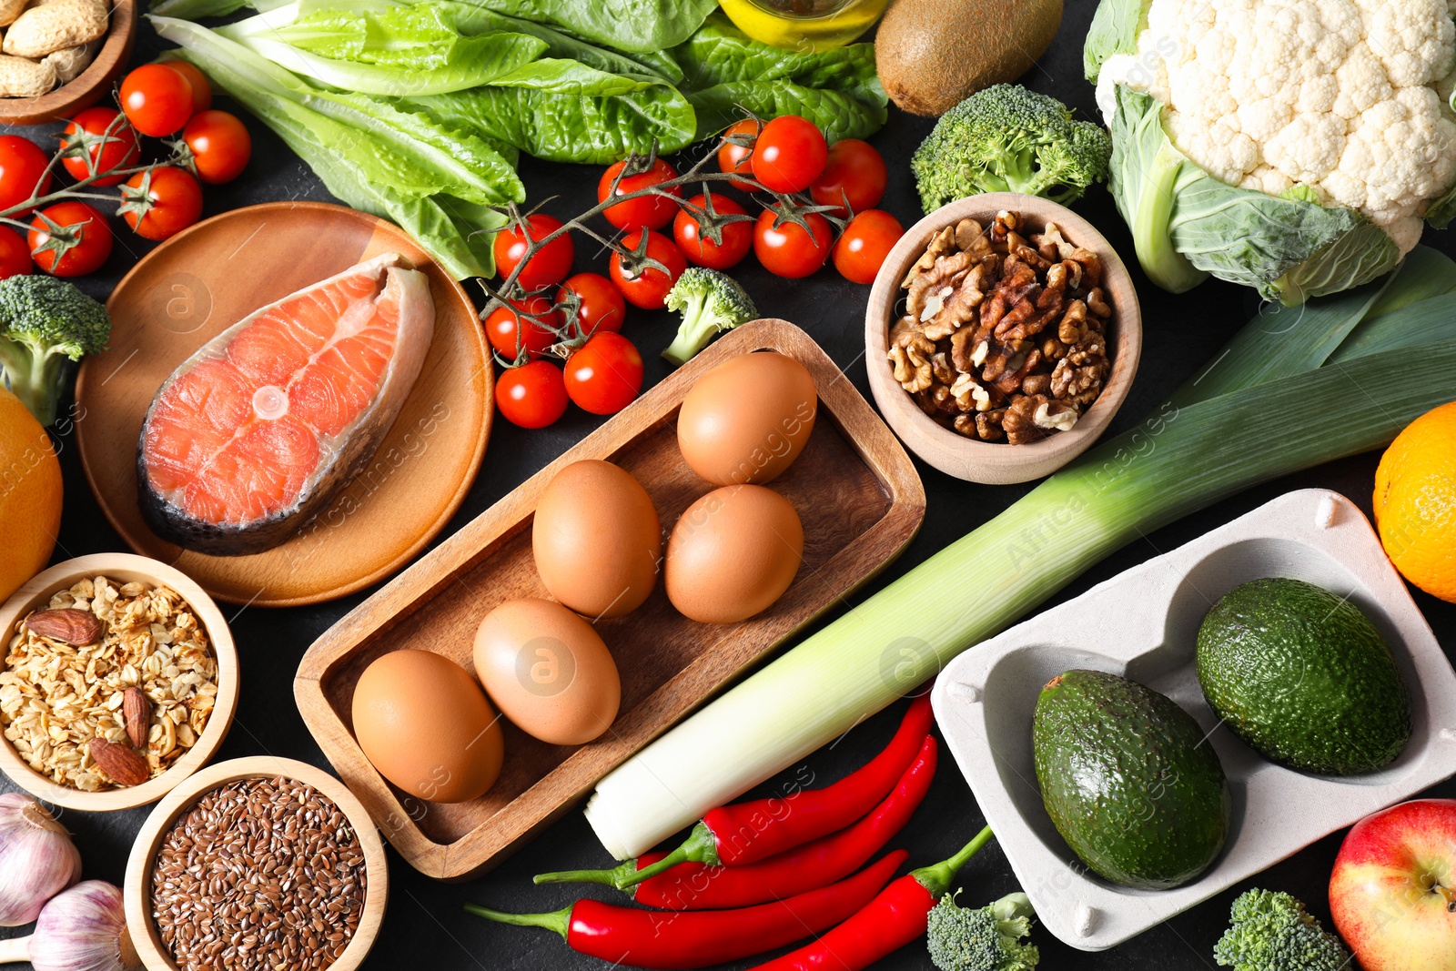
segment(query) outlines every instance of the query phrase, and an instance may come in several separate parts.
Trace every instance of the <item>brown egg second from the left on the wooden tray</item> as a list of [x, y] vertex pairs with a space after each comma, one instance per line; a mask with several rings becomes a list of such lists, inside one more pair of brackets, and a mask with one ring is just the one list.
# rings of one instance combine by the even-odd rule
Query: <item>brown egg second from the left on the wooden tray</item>
[[508, 600], [475, 633], [475, 673], [517, 728], [552, 745], [581, 745], [607, 731], [622, 681], [591, 625], [561, 604]]

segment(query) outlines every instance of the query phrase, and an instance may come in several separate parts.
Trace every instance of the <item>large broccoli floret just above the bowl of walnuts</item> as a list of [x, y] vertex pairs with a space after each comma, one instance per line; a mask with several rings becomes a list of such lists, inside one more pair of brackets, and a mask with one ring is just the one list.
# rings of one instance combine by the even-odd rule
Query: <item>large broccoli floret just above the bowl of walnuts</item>
[[994, 84], [945, 112], [916, 148], [925, 211], [980, 192], [1044, 195], [1066, 205], [1107, 178], [1112, 138], [1073, 121], [1056, 98]]

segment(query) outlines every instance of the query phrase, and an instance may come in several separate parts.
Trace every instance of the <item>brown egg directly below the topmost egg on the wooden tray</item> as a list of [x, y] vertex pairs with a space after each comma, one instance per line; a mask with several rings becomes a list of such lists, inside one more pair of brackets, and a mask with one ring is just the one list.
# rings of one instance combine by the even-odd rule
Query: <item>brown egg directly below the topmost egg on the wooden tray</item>
[[773, 606], [804, 559], [804, 526], [782, 495], [724, 486], [687, 507], [667, 540], [667, 597], [702, 623], [747, 620]]

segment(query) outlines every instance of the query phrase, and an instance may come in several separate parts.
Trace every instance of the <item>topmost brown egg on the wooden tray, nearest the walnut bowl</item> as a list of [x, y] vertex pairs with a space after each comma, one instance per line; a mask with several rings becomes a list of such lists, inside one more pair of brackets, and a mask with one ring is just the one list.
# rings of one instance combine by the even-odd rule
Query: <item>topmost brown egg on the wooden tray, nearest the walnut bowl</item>
[[783, 475], [814, 431], [818, 392], [798, 361], [744, 354], [697, 379], [677, 416], [677, 447], [713, 485], [763, 485]]

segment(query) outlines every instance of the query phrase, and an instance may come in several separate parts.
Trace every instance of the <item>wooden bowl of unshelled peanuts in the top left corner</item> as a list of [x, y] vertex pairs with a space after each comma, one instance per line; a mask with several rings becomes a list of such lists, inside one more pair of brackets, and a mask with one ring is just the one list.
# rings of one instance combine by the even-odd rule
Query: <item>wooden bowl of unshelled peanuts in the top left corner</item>
[[[86, 26], [99, 16], [96, 4], [106, 15], [99, 36], [93, 36], [99, 23]], [[45, 22], [31, 23], [39, 17]], [[137, 36], [137, 0], [0, 0], [0, 23], [7, 35], [0, 42], [0, 90], [6, 92], [0, 95], [0, 124], [39, 125], [74, 115], [111, 93]], [[16, 44], [10, 42], [13, 32]]]

